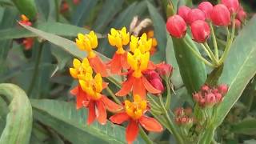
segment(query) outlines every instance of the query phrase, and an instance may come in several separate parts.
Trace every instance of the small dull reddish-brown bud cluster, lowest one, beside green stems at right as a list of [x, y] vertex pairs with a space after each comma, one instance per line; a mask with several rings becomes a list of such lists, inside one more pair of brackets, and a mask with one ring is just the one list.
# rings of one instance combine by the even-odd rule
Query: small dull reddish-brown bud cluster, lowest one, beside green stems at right
[[178, 125], [192, 125], [194, 118], [192, 117], [192, 109], [191, 108], [182, 108], [178, 107], [175, 111], [175, 122]]

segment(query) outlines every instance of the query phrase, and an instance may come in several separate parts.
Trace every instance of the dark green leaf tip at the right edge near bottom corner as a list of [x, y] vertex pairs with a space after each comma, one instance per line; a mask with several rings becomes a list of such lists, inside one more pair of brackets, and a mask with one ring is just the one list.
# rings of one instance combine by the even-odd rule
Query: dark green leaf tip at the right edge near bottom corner
[[236, 134], [256, 134], [256, 119], [255, 118], [246, 118], [242, 122], [238, 122], [231, 126], [230, 132]]

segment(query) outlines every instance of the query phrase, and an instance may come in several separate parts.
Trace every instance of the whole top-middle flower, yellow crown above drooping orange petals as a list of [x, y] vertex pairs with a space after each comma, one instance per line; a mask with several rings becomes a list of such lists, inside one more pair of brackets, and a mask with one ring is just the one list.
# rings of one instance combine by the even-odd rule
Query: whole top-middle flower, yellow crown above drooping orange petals
[[126, 70], [129, 68], [127, 54], [122, 46], [129, 43], [130, 35], [126, 33], [126, 27], [123, 27], [122, 30], [111, 29], [110, 34], [108, 34], [108, 40], [111, 46], [116, 46], [118, 49], [109, 62], [110, 71], [112, 74], [120, 74], [122, 69]]

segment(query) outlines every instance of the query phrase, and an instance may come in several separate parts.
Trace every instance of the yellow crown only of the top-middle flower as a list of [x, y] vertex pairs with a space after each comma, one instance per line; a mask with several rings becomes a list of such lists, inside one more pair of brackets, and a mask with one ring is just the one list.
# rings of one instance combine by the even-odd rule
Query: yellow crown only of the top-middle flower
[[130, 41], [130, 34], [126, 33], [126, 27], [123, 27], [122, 30], [115, 30], [112, 28], [110, 34], [107, 36], [110, 45], [118, 48], [117, 53], [123, 54], [125, 50], [123, 50], [122, 46], [127, 45]]

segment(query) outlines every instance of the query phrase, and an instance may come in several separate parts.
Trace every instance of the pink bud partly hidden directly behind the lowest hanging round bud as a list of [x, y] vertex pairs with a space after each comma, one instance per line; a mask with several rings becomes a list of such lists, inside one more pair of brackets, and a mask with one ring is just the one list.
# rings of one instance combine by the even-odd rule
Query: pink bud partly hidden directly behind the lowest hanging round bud
[[199, 9], [190, 10], [189, 14], [187, 14], [188, 22], [191, 25], [193, 22], [197, 20], [206, 20], [206, 14]]

